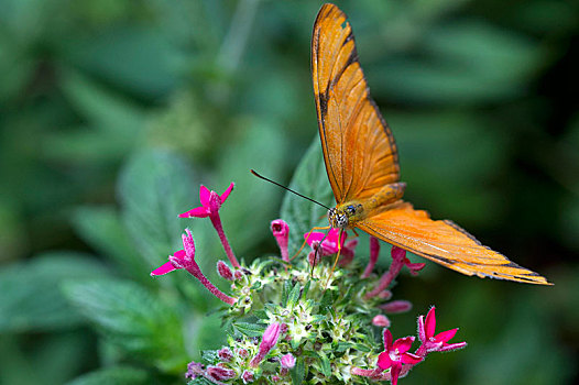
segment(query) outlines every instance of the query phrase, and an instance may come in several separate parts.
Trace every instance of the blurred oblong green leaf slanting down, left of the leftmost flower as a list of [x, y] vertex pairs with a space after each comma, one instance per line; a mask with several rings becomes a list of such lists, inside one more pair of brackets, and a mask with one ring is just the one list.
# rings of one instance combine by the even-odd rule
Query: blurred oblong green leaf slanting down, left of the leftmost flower
[[153, 283], [150, 266], [130, 242], [119, 215], [112, 207], [81, 207], [75, 210], [73, 223], [92, 248], [114, 261], [125, 275], [143, 283]]

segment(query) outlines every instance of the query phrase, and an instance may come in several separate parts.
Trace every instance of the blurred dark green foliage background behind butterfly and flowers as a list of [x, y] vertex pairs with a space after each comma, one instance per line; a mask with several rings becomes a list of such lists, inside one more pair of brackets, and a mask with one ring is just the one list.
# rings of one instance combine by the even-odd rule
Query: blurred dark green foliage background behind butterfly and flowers
[[[149, 272], [186, 226], [206, 271], [222, 257], [208, 223], [175, 218], [201, 183], [237, 183], [222, 213], [238, 255], [275, 252], [283, 193], [248, 170], [287, 183], [317, 135], [309, 44], [321, 3], [0, 0], [0, 383], [110, 383], [106, 370], [122, 365], [119, 383], [183, 382], [179, 359], [210, 342], [201, 330], [215, 326], [197, 321], [215, 302], [183, 275]], [[579, 2], [336, 3], [398, 143], [406, 197], [555, 283], [433, 264], [401, 279], [395, 295], [414, 309], [393, 317], [395, 337], [436, 304], [441, 330], [459, 326], [470, 343], [403, 384], [577, 382]], [[123, 354], [98, 328], [102, 310], [83, 306], [110, 300], [83, 285], [102, 277], [148, 307], [198, 298], [186, 326], [151, 305], [186, 339]]]

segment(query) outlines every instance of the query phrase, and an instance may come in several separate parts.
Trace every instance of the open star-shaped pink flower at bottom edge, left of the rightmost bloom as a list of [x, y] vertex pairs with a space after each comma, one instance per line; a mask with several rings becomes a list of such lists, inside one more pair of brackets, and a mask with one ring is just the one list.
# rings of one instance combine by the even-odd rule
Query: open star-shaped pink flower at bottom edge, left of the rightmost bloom
[[397, 339], [392, 343], [392, 333], [384, 329], [384, 351], [378, 356], [378, 366], [385, 371], [390, 369], [392, 385], [396, 385], [402, 364], [415, 365], [424, 360], [424, 358], [408, 353], [408, 350], [414, 342], [414, 337], [405, 337]]

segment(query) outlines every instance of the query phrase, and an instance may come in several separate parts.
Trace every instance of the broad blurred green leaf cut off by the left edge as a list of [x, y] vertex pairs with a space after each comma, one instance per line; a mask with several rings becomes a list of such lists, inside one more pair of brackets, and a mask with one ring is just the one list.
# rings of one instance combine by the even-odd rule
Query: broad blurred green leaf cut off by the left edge
[[4, 267], [0, 271], [0, 331], [62, 330], [83, 323], [58, 284], [107, 274], [89, 255], [73, 252], [46, 253]]

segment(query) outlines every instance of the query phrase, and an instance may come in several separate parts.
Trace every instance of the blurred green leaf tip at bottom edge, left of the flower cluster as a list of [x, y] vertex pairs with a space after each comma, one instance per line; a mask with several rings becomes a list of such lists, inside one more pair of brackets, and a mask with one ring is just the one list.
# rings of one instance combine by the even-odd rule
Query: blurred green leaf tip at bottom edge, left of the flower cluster
[[150, 383], [151, 378], [146, 371], [129, 366], [116, 366], [90, 372], [70, 381], [67, 385], [139, 385]]

